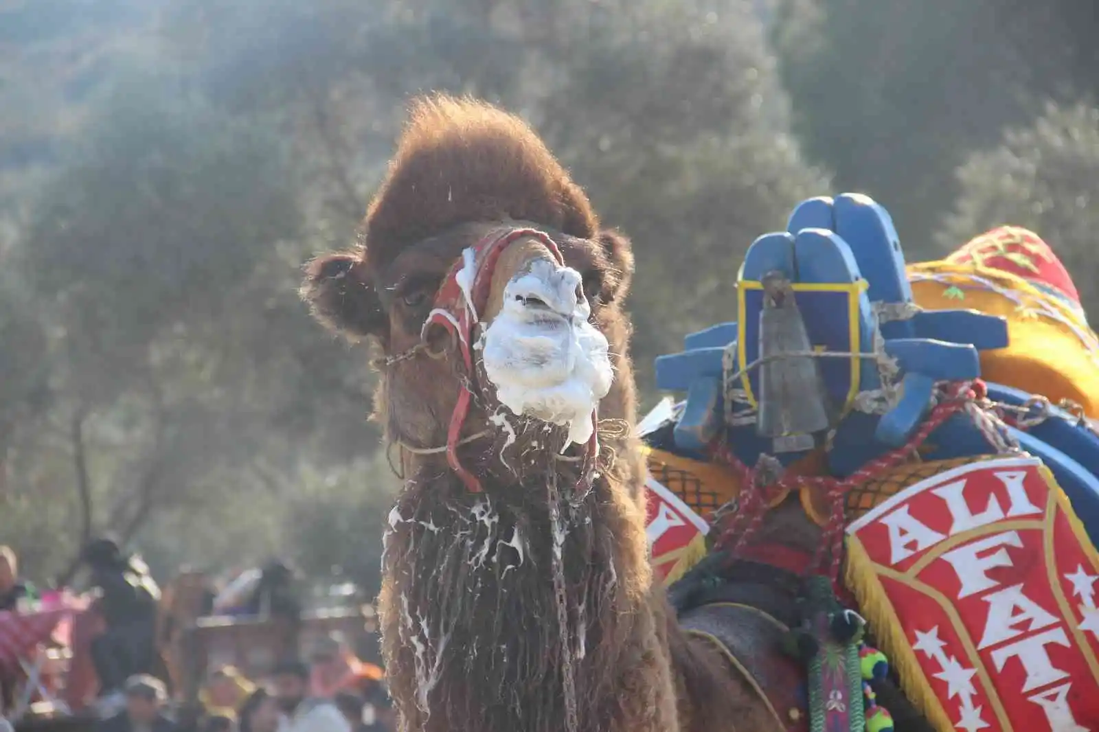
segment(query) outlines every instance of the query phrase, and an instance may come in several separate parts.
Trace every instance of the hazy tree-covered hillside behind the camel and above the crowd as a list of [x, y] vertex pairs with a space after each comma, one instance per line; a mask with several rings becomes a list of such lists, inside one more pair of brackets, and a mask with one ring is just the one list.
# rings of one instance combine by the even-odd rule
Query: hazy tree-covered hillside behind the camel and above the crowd
[[295, 288], [411, 95], [534, 123], [634, 240], [635, 359], [735, 318], [802, 198], [910, 260], [1031, 226], [1099, 306], [1099, 53], [1046, 0], [0, 0], [0, 543], [111, 530], [162, 578], [281, 553], [373, 588], [395, 479], [368, 354]]

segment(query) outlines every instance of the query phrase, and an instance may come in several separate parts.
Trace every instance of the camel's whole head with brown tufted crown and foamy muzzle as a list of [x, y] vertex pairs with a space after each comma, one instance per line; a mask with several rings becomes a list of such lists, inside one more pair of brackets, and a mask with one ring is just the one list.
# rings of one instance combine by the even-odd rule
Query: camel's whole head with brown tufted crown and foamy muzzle
[[358, 245], [310, 263], [302, 293], [380, 347], [389, 440], [477, 490], [475, 473], [590, 456], [601, 422], [632, 423], [632, 268], [524, 122], [435, 97], [413, 106]]

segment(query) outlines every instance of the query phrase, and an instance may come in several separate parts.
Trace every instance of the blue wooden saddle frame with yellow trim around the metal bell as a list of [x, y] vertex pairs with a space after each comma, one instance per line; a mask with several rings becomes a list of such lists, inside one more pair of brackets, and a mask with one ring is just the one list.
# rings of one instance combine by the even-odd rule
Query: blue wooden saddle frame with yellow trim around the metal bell
[[[814, 350], [864, 355], [820, 359], [829, 398], [841, 413], [847, 413], [837, 439], [864, 446], [856, 454], [842, 451], [850, 459], [833, 466], [842, 475], [874, 453], [903, 444], [924, 417], [935, 380], [976, 377], [976, 347], [1002, 347], [1007, 330], [1001, 319], [974, 311], [920, 313], [911, 309], [911, 288], [896, 230], [885, 209], [865, 196], [810, 199], [795, 210], [788, 229], [761, 236], [748, 248], [739, 281], [740, 321], [692, 333], [685, 339], [685, 352], [657, 358], [657, 387], [688, 392], [675, 430], [676, 445], [682, 451], [702, 451], [726, 428], [723, 412], [734, 422], [743, 421], [736, 418], [751, 419], [758, 370], [747, 370], [739, 379], [741, 389], [725, 393], [719, 387], [722, 376], [751, 369], [758, 357], [761, 279], [779, 271], [793, 282]], [[911, 312], [899, 309], [908, 317], [881, 323], [878, 336], [878, 302], [908, 306]], [[977, 344], [974, 331], [983, 334]], [[964, 337], [963, 332], [970, 336]], [[874, 358], [879, 337], [882, 353], [896, 361], [896, 378], [903, 384], [903, 397], [885, 419], [851, 412], [859, 392], [881, 387]], [[719, 358], [722, 347], [724, 364]], [[734, 403], [725, 403], [731, 400]], [[759, 439], [751, 424], [726, 429], [741, 459], [752, 464], [761, 453], [769, 452], [768, 441]], [[789, 453], [780, 459], [790, 462], [798, 456]]]

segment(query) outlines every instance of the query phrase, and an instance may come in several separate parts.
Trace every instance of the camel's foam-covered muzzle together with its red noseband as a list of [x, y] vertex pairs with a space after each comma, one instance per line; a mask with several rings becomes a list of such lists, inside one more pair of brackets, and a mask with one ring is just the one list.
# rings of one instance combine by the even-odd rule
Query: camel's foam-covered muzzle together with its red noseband
[[479, 389], [477, 348], [503, 407], [567, 426], [562, 450], [576, 442], [587, 445], [588, 458], [598, 453], [596, 409], [613, 371], [607, 339], [588, 322], [591, 309], [580, 285], [547, 234], [503, 229], [463, 252], [440, 286], [422, 341], [443, 329], [462, 356], [446, 457], [469, 490], [479, 492], [480, 480], [462, 465], [457, 448], [473, 390]]

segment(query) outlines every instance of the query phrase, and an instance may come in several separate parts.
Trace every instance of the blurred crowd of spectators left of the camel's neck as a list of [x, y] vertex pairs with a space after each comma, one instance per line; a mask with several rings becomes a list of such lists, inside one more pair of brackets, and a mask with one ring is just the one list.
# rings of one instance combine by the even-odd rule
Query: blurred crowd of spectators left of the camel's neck
[[[285, 659], [264, 679], [215, 668], [203, 679], [199, 709], [184, 712], [171, 701], [179, 690], [162, 680], [169, 676], [155, 641], [160, 590], [144, 562], [111, 539], [96, 539], [80, 554], [78, 575], [100, 618], [90, 642], [102, 716], [97, 732], [179, 732], [185, 718], [188, 732], [397, 730], [381, 668], [360, 661], [337, 632], [322, 637], [308, 661]], [[206, 590], [202, 614], [297, 620], [301, 603], [292, 580], [293, 570], [273, 559]], [[20, 578], [15, 553], [0, 546], [0, 611], [33, 612], [38, 597]], [[9, 686], [0, 678], [0, 696], [12, 696]], [[0, 698], [0, 712], [4, 707]]]

